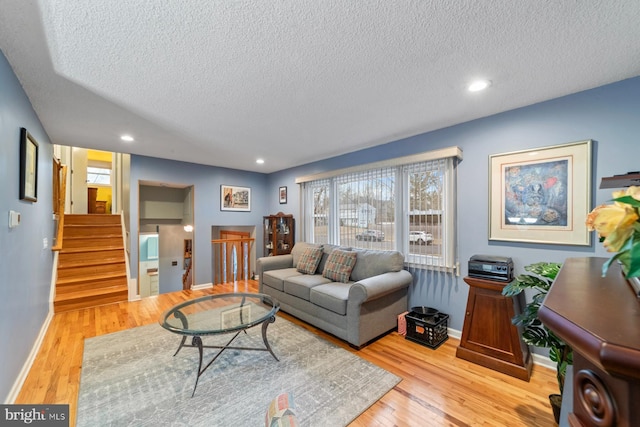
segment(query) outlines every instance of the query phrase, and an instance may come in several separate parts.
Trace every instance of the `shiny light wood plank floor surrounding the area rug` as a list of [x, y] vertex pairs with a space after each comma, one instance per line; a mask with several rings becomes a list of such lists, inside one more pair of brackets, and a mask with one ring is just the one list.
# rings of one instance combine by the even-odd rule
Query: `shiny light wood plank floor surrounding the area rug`
[[[84, 338], [154, 323], [164, 310], [181, 301], [234, 291], [256, 292], [257, 284], [217, 285], [56, 314], [15, 403], [68, 403], [71, 425], [75, 425]], [[456, 358], [456, 339], [431, 350], [396, 332], [355, 351], [292, 316], [279, 315], [403, 379], [352, 427], [556, 425], [548, 402], [548, 395], [557, 388], [550, 369], [534, 366], [531, 381], [525, 382]]]

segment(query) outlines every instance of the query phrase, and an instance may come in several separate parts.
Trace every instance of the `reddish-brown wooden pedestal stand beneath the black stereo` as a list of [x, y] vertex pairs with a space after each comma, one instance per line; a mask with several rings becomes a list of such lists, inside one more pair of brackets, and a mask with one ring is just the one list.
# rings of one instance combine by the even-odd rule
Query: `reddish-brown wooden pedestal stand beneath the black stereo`
[[529, 381], [531, 353], [511, 323], [513, 316], [521, 312], [523, 301], [502, 295], [505, 282], [475, 277], [465, 277], [464, 281], [470, 286], [469, 298], [456, 356]]

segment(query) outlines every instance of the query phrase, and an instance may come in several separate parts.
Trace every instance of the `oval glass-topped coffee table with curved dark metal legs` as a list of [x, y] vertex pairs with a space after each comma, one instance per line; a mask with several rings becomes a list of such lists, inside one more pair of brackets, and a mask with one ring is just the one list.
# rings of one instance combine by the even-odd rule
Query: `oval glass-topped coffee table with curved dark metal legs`
[[[182, 341], [174, 356], [182, 347], [195, 347], [200, 354], [198, 375], [191, 396], [193, 397], [196, 393], [200, 376], [227, 349], [268, 351], [274, 359], [279, 360], [267, 340], [267, 327], [276, 321], [276, 313], [279, 309], [280, 303], [269, 295], [230, 293], [207, 295], [185, 301], [165, 311], [160, 317], [160, 326], [182, 335]], [[247, 329], [258, 325], [262, 325], [264, 348], [231, 346], [238, 335], [242, 332], [246, 333]], [[204, 345], [202, 343], [203, 336], [230, 333], [234, 333], [234, 335], [225, 345]], [[188, 337], [191, 337], [191, 344], [185, 344]], [[203, 367], [202, 355], [205, 348], [217, 348], [220, 351]]]

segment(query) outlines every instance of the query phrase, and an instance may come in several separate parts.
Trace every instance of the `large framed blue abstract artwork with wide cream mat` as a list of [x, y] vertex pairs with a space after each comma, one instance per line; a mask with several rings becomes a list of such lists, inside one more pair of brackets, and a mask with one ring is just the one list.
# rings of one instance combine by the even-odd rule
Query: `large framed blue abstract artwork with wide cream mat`
[[489, 156], [489, 240], [589, 246], [591, 145]]

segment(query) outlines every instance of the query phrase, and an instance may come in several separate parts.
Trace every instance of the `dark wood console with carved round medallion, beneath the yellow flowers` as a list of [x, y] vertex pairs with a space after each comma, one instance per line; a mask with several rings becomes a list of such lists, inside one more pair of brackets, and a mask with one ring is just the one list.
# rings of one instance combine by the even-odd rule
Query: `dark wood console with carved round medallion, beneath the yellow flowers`
[[574, 350], [570, 426], [640, 425], [640, 300], [605, 261], [568, 258], [538, 312]]

